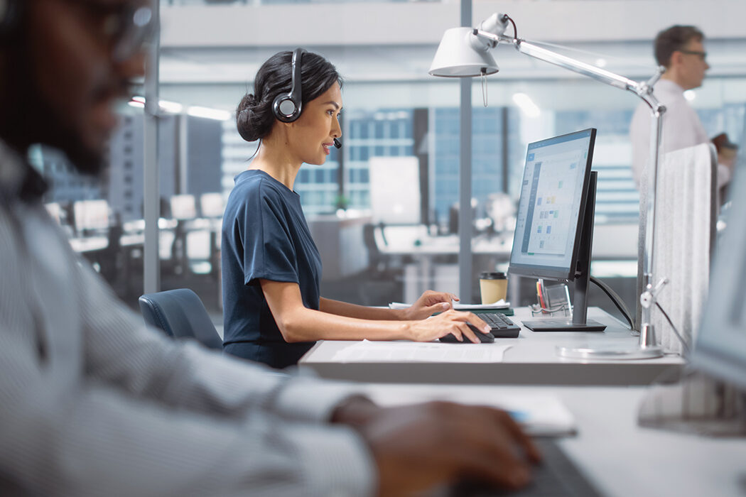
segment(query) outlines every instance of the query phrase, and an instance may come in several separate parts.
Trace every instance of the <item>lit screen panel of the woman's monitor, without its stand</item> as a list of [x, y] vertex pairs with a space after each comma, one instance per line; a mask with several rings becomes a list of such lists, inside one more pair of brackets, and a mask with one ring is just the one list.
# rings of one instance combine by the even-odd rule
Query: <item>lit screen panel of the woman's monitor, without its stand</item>
[[596, 130], [528, 145], [510, 273], [574, 278]]

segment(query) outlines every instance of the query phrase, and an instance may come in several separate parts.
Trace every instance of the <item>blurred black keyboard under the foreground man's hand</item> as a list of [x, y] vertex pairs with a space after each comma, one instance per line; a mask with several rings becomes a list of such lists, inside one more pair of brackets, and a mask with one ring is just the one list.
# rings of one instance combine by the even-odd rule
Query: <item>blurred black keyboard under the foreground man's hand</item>
[[[461, 481], [446, 492], [448, 497], [600, 497], [562, 449], [549, 439], [535, 439], [543, 461], [534, 466], [532, 481], [517, 492], [507, 492], [474, 481]], [[442, 494], [441, 494], [442, 495]]]

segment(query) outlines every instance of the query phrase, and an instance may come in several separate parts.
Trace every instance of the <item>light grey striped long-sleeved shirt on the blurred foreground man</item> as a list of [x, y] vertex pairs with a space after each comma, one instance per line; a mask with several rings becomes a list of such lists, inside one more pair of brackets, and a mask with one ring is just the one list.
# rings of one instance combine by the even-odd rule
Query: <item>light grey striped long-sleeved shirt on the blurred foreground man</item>
[[148, 329], [69, 247], [0, 142], [3, 496], [365, 496], [369, 450], [329, 425], [348, 384]]

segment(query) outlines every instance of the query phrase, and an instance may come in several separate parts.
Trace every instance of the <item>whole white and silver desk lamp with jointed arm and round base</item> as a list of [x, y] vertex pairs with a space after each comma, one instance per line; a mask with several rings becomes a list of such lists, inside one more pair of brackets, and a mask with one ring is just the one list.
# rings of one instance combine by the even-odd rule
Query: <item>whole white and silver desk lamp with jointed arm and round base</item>
[[[508, 22], [513, 25], [513, 37], [504, 34]], [[477, 28], [451, 28], [446, 30], [438, 46], [433, 63], [430, 66], [430, 75], [442, 77], [485, 77], [486, 75], [495, 74], [495, 72], [499, 71], [499, 68], [497, 63], [495, 63], [495, 59], [492, 58], [490, 50], [496, 48], [500, 42], [513, 45], [513, 48], [522, 54], [591, 77], [615, 88], [633, 92], [650, 107], [651, 115], [653, 115], [653, 124], [651, 125], [650, 165], [648, 166], [648, 209], [647, 223], [645, 225], [645, 255], [642, 266], [643, 291], [640, 295], [642, 322], [640, 326], [639, 346], [634, 349], [562, 347], [558, 352], [560, 355], [572, 358], [633, 359], [660, 357], [663, 355], [663, 351], [662, 347], [656, 343], [653, 323], [651, 321], [651, 311], [656, 304], [656, 294], [668, 282], [667, 279], [662, 279], [655, 287], [653, 287], [652, 282], [656, 172], [659, 162], [662, 115], [665, 112], [665, 107], [653, 95], [653, 84], [659, 80], [665, 68], [662, 66], [659, 67], [656, 74], [650, 80], [638, 83], [627, 79], [627, 77], [615, 75], [612, 72], [580, 62], [580, 60], [565, 57], [564, 55], [520, 39], [517, 36], [513, 19], [510, 19], [510, 16], [504, 13], [494, 13], [481, 22]]]

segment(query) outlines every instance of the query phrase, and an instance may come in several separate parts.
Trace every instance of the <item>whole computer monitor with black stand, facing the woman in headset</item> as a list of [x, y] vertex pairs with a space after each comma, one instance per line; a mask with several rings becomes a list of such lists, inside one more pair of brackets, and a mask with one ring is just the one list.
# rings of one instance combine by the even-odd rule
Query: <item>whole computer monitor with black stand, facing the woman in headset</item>
[[603, 331], [586, 319], [596, 173], [596, 130], [528, 145], [508, 272], [574, 282], [572, 319], [523, 321], [533, 331]]

